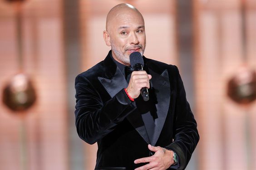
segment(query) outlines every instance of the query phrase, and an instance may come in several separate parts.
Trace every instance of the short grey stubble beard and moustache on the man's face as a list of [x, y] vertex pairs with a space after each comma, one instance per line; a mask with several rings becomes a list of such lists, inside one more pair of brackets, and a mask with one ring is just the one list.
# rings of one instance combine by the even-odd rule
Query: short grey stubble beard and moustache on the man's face
[[[117, 60], [119, 61], [122, 61], [123, 64], [125, 65], [130, 65], [130, 57], [127, 56], [125, 53], [121, 52], [121, 51], [118, 51], [118, 49], [116, 48], [116, 46], [113, 44], [113, 42], [110, 42], [111, 44], [111, 49], [113, 50], [114, 54], [115, 54], [115, 57], [117, 58]], [[127, 47], [125, 48], [125, 51], [126, 52], [128, 49], [130, 48], [141, 48], [141, 55], [143, 56], [143, 53], [145, 51], [145, 47], [143, 47], [141, 44], [139, 45], [135, 45], [134, 47]]]

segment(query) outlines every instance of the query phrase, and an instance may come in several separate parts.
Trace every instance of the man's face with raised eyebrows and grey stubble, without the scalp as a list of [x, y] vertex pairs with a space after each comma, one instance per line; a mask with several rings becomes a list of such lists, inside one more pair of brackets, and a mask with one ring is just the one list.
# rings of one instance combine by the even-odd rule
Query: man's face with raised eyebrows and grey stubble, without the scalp
[[143, 18], [133, 10], [118, 14], [109, 25], [110, 44], [113, 58], [124, 65], [130, 65], [132, 52], [143, 55], [146, 34]]

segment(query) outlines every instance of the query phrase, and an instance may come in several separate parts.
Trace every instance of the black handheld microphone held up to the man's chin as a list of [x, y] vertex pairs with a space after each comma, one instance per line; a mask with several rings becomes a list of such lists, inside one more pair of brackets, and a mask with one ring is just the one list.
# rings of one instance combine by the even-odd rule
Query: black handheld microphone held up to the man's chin
[[[143, 66], [144, 66], [144, 61], [141, 56], [141, 53], [139, 53], [139, 52], [131, 53], [130, 54], [130, 63], [131, 63], [131, 66], [133, 67], [134, 71], [142, 71]], [[146, 87], [143, 87], [140, 90], [140, 94], [143, 97], [144, 101], [149, 100], [149, 93], [148, 93], [148, 89]]]

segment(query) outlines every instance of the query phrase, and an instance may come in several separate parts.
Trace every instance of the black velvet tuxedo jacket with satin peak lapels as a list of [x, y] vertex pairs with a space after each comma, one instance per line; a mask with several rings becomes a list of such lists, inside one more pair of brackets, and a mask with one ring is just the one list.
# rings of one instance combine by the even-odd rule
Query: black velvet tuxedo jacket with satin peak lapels
[[[185, 169], [199, 135], [177, 67], [143, 57], [152, 75], [150, 99], [131, 102], [123, 90], [128, 83], [110, 55], [75, 79], [75, 123], [80, 138], [98, 143], [95, 170], [134, 170], [143, 165], [134, 160], [154, 154], [148, 144], [175, 151], [179, 169]], [[151, 139], [143, 123], [147, 114], [155, 122]]]

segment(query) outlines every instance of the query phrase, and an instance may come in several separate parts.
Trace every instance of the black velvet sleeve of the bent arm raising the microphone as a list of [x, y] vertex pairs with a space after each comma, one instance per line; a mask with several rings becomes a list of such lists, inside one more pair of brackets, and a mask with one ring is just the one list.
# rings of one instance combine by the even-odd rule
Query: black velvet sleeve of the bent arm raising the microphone
[[94, 144], [113, 131], [118, 123], [136, 109], [124, 90], [103, 103], [99, 91], [83, 75], [76, 77], [75, 90], [77, 132], [89, 144]]

